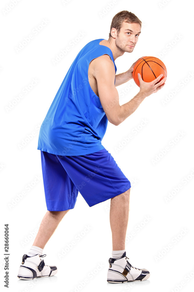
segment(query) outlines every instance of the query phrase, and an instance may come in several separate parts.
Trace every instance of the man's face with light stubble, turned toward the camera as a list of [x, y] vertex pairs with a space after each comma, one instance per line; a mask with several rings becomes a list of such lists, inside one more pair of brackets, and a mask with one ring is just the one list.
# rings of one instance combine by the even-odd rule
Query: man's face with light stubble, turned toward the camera
[[120, 32], [116, 36], [115, 45], [122, 52], [133, 52], [140, 32], [141, 27], [139, 23], [123, 22]]

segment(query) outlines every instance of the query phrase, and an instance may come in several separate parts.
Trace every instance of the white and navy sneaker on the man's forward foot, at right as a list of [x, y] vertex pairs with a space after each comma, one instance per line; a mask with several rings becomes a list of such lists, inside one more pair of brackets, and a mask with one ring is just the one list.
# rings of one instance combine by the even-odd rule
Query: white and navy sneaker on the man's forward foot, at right
[[109, 258], [109, 269], [107, 282], [109, 283], [126, 283], [130, 281], [144, 281], [149, 278], [149, 271], [146, 269], [137, 269], [132, 267], [126, 257], [126, 251], [122, 257], [116, 260]]

